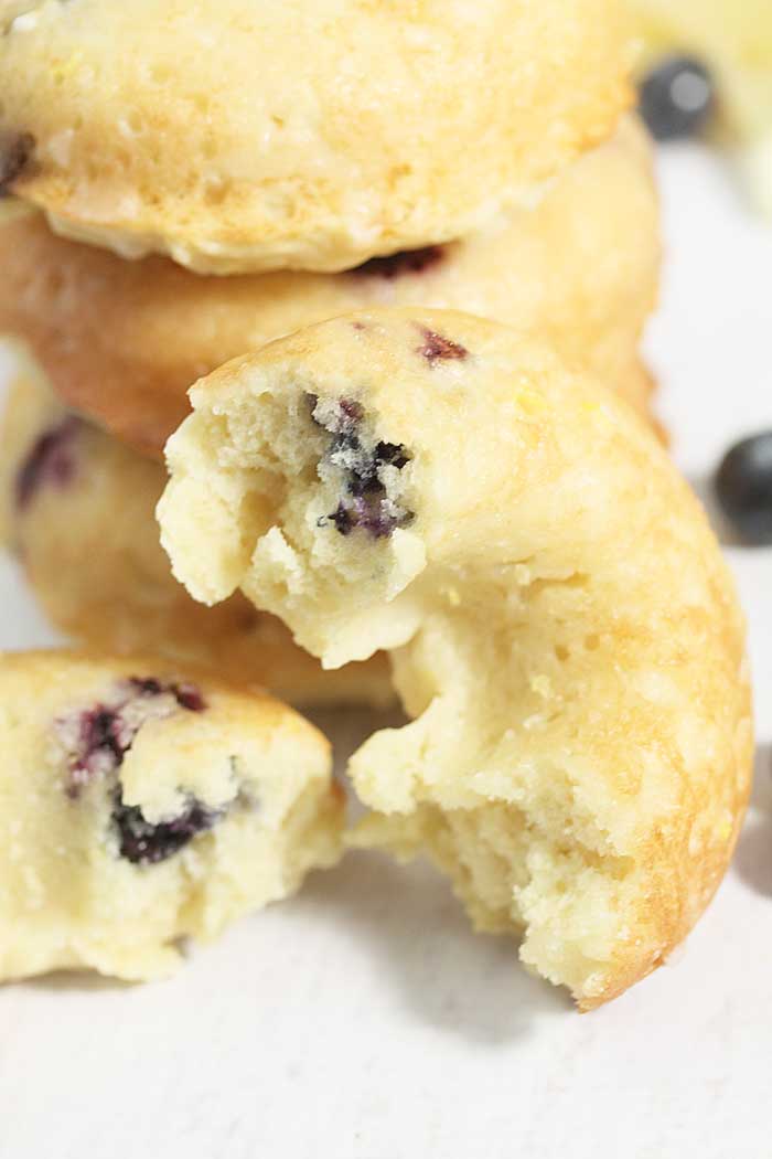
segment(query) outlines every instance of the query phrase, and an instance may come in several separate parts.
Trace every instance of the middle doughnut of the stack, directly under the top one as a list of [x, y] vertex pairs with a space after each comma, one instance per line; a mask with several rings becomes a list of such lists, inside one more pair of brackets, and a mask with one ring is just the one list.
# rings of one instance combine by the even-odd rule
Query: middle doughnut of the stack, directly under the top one
[[632, 118], [536, 209], [347, 274], [203, 278], [163, 258], [124, 262], [65, 241], [41, 214], [19, 212], [0, 228], [0, 331], [25, 340], [71, 406], [159, 457], [197, 378], [372, 305], [465, 308], [542, 328], [647, 413], [638, 345], [657, 290], [659, 207], [650, 145]]

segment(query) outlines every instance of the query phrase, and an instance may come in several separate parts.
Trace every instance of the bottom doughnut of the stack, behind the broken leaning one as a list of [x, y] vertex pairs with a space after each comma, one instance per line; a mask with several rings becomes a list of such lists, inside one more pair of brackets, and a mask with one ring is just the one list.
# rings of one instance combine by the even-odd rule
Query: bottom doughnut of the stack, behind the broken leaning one
[[383, 655], [324, 672], [235, 595], [197, 604], [171, 575], [155, 504], [167, 475], [59, 403], [19, 365], [0, 427], [0, 533], [50, 620], [108, 653], [153, 650], [303, 706], [392, 700]]

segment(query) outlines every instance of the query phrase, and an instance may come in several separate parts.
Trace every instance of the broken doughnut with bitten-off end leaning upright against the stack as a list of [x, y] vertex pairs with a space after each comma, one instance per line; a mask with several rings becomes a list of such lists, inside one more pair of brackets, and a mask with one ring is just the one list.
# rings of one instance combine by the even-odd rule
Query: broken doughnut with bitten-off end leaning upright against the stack
[[731, 855], [752, 728], [707, 520], [613, 394], [536, 340], [373, 311], [191, 392], [162, 541], [334, 668], [390, 649], [411, 723], [353, 756], [358, 840], [427, 851], [583, 1009], [661, 964]]

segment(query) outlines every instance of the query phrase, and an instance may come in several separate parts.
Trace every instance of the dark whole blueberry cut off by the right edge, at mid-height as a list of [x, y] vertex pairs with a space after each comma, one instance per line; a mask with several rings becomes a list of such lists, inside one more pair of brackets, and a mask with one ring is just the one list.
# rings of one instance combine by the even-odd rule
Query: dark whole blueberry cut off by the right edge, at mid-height
[[772, 430], [736, 443], [715, 476], [721, 510], [747, 544], [772, 544]]

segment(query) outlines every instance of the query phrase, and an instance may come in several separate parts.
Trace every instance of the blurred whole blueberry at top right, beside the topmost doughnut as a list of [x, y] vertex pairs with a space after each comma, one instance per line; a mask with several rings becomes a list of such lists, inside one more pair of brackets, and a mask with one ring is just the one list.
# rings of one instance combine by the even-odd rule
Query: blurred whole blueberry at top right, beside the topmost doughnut
[[713, 78], [694, 57], [667, 57], [642, 81], [639, 108], [655, 140], [696, 137], [715, 108]]

